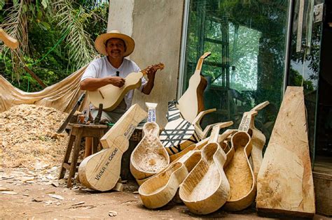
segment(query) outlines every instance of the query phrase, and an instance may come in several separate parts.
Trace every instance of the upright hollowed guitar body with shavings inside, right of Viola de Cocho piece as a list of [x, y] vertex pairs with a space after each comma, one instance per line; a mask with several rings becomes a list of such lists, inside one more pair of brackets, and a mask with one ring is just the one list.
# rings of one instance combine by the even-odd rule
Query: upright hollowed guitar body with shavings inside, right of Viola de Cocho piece
[[[130, 172], [135, 179], [145, 179], [168, 166], [170, 156], [159, 140], [159, 126], [155, 123], [156, 103], [148, 106], [148, 122], [144, 124], [144, 137], [130, 156]], [[154, 107], [154, 108], [153, 108]]]

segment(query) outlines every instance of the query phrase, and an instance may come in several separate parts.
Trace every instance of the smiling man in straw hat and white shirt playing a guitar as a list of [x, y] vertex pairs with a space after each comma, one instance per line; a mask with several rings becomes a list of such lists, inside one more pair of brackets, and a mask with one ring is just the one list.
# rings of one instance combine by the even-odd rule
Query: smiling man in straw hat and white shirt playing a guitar
[[[110, 31], [97, 37], [95, 41], [97, 51], [106, 57], [95, 59], [86, 68], [81, 78], [81, 89], [93, 91], [105, 85], [123, 87], [125, 77], [132, 72], [139, 72], [140, 68], [134, 61], [125, 59], [134, 50], [134, 40], [120, 31]], [[156, 70], [149, 67], [147, 71], [148, 81], [141, 79], [141, 87], [138, 89], [144, 94], [150, 94], [153, 89]], [[102, 120], [115, 123], [132, 105], [133, 90], [130, 90], [118, 107], [111, 112], [102, 112]], [[97, 108], [92, 107], [92, 116], [96, 117]], [[89, 146], [90, 145], [90, 146]], [[91, 138], [85, 140], [85, 156], [91, 154]]]

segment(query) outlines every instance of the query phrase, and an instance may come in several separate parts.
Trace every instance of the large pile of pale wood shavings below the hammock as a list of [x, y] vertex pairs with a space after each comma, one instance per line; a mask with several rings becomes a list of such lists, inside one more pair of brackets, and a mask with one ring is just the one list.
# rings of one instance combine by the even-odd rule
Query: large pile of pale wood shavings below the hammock
[[0, 113], [0, 167], [60, 166], [67, 133], [56, 133], [67, 113], [40, 105], [15, 105]]

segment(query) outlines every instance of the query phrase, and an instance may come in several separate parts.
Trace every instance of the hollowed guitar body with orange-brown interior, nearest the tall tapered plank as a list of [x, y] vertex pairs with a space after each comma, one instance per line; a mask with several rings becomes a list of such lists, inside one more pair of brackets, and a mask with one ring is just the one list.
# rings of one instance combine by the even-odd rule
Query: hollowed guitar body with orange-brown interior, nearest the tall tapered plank
[[225, 168], [230, 184], [230, 197], [224, 205], [226, 210], [244, 210], [254, 202], [256, 196], [256, 180], [249, 163], [252, 145], [247, 132], [238, 131], [231, 138], [235, 149], [233, 159]]

